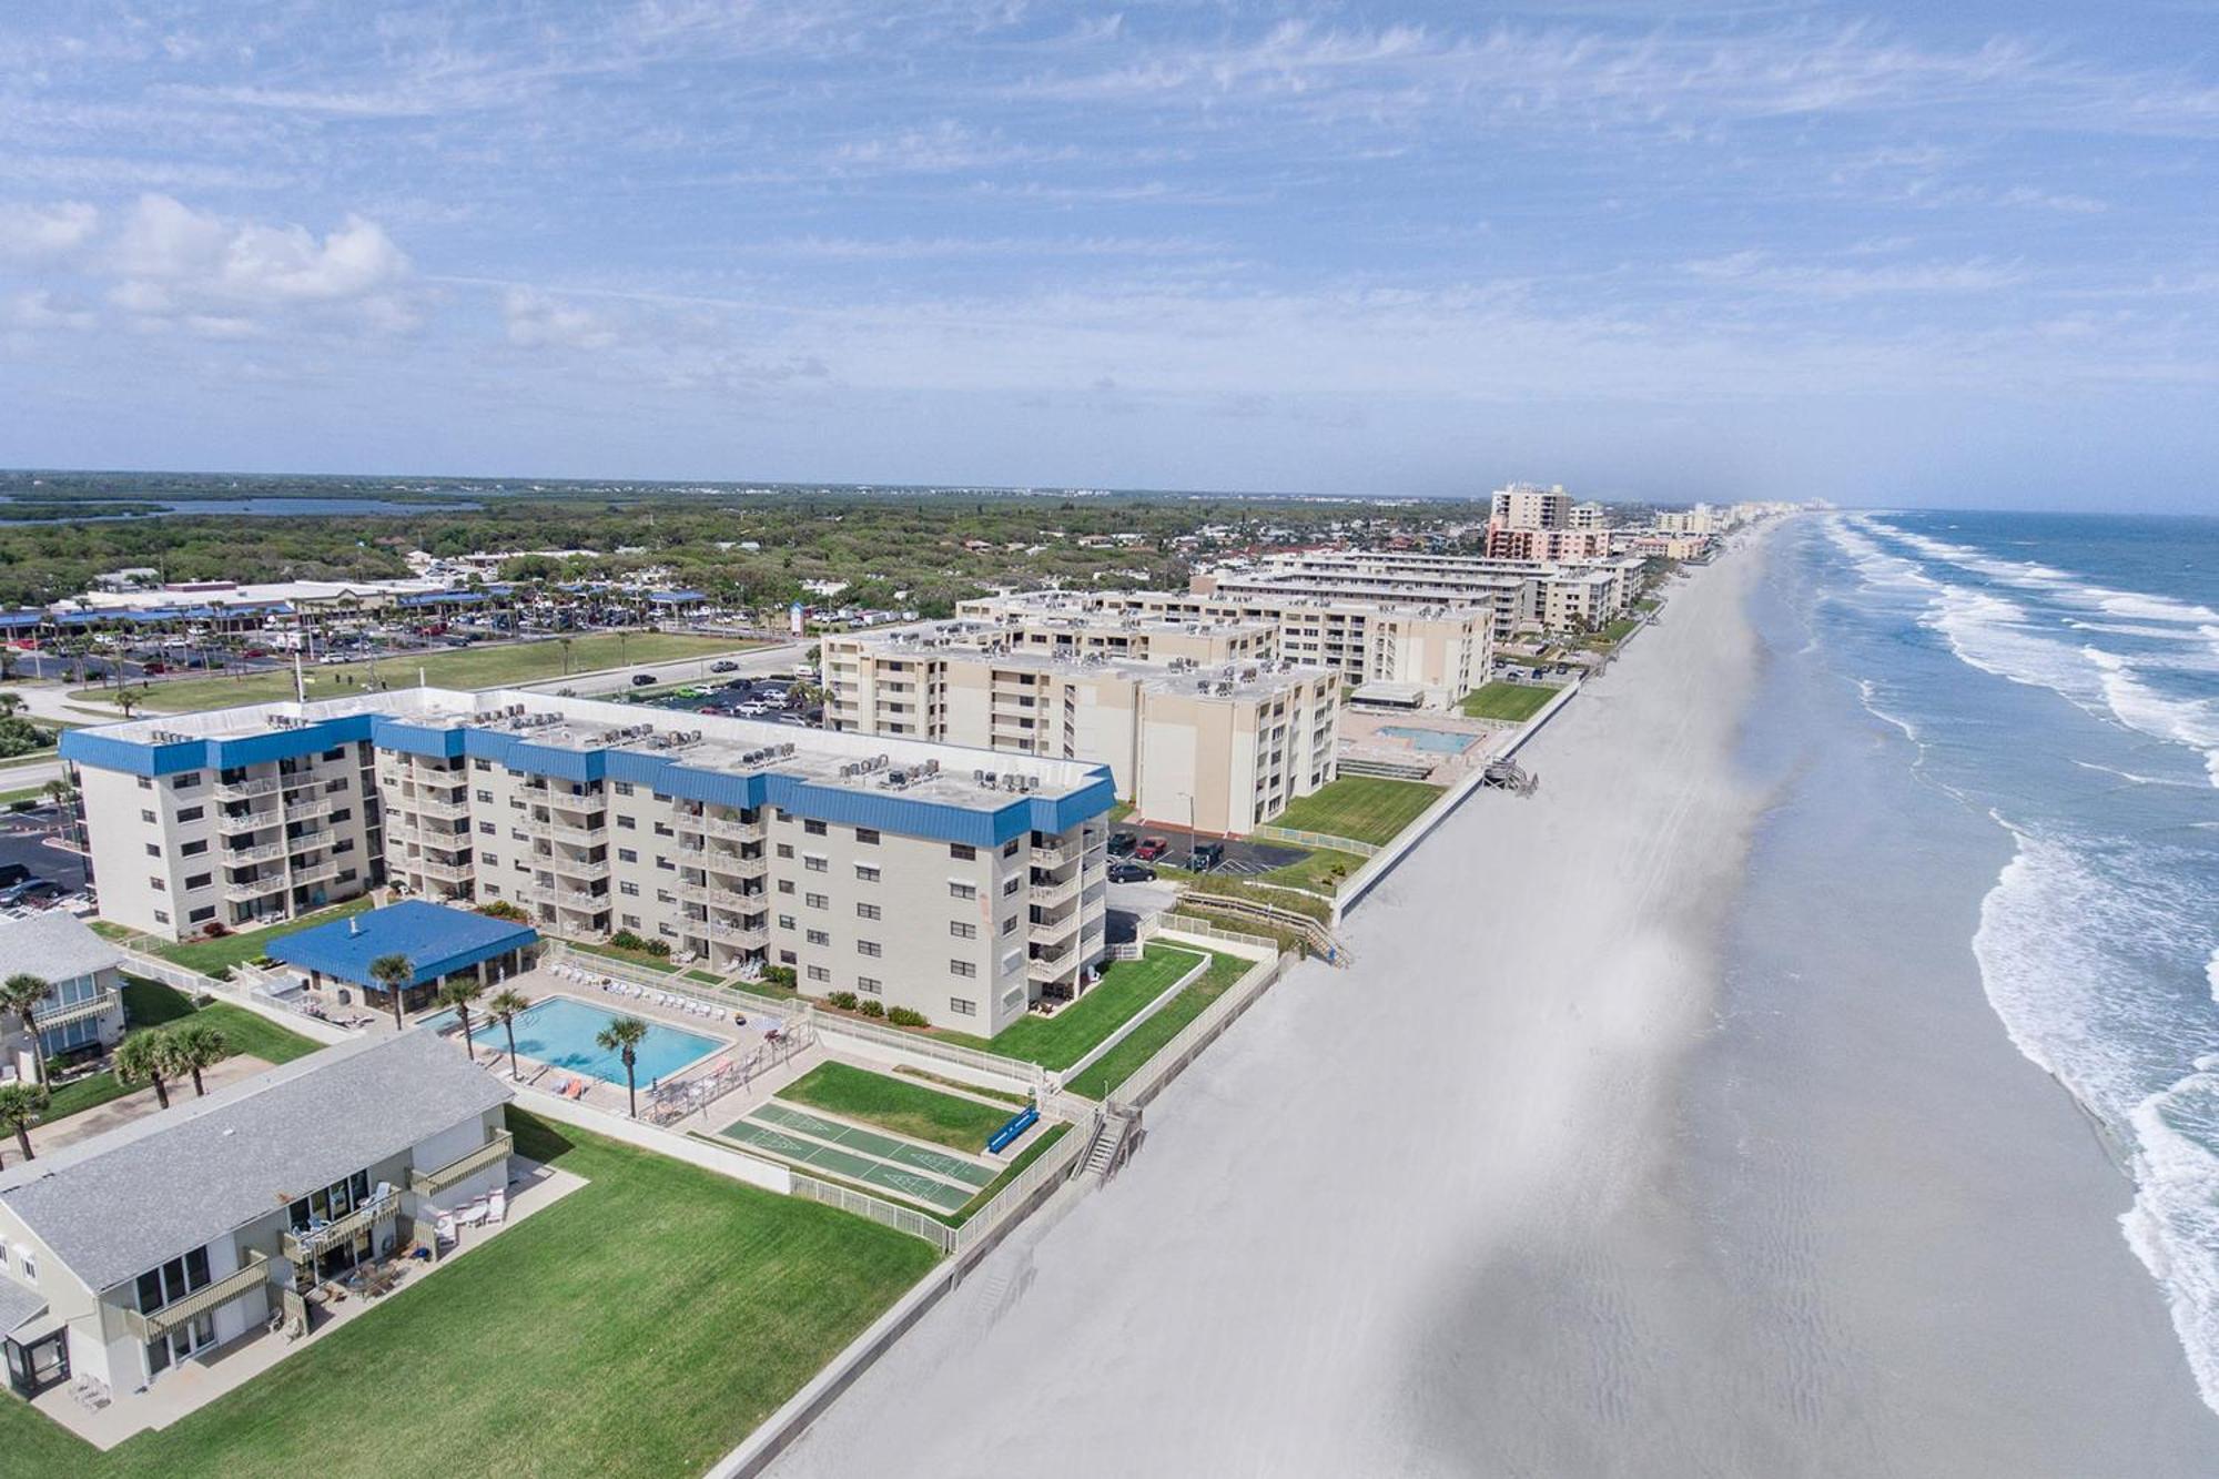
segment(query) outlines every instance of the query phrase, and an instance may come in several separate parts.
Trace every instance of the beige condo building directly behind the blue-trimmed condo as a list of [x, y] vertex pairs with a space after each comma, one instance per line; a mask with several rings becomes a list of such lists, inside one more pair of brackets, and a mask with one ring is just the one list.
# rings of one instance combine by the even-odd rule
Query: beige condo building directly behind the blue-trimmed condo
[[1110, 766], [1141, 819], [1249, 833], [1334, 779], [1340, 675], [1269, 622], [956, 617], [823, 640], [825, 726]]

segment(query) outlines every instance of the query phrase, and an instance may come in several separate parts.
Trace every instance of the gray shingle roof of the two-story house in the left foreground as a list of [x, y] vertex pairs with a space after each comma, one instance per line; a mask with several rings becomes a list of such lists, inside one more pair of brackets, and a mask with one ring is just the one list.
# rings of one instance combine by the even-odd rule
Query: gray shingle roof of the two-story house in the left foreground
[[340, 1044], [0, 1173], [0, 1201], [102, 1290], [506, 1104], [435, 1033]]

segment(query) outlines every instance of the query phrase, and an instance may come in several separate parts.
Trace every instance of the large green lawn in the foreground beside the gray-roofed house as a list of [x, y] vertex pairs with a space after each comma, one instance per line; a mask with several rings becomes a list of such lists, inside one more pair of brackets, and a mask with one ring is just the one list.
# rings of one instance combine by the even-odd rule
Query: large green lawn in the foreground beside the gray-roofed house
[[0, 1401], [7, 1472], [699, 1475], [939, 1257], [828, 1206], [510, 1110], [586, 1177], [184, 1421], [102, 1455]]

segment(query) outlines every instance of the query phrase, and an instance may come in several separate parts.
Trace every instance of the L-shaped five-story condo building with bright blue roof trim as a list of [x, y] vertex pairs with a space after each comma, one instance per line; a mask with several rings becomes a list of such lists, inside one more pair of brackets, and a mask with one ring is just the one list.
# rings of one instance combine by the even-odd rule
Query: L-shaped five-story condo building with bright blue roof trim
[[1116, 786], [1090, 762], [444, 688], [80, 728], [62, 755], [102, 915], [153, 935], [386, 884], [983, 1035], [1105, 955]]

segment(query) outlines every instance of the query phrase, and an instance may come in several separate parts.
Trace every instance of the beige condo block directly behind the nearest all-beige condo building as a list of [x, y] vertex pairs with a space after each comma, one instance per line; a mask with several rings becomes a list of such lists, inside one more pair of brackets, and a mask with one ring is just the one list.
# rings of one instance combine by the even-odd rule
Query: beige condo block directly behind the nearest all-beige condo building
[[[1407, 684], [1445, 708], [1487, 682], [1500, 615], [1485, 604], [1323, 600], [1298, 591], [1218, 591], [1198, 575], [1187, 591], [1016, 591], [956, 604], [959, 617], [1023, 626], [1041, 617], [1265, 624], [1283, 660], [1338, 673], [1345, 684]], [[1502, 626], [1507, 640], [1516, 626]]]

